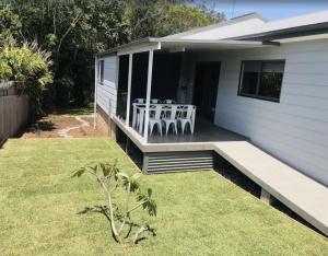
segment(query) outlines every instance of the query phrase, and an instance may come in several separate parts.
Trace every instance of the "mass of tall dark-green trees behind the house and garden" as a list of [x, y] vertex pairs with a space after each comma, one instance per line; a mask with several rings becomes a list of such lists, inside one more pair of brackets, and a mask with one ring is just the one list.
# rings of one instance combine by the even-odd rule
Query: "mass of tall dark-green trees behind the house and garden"
[[[1, 1], [1, 0], [0, 0]], [[2, 0], [22, 25], [21, 39], [51, 53], [54, 84], [47, 102], [85, 105], [93, 98], [94, 54], [145, 36], [220, 22], [188, 0]], [[4, 9], [4, 8], [3, 8]], [[13, 30], [14, 31], [14, 30]]]

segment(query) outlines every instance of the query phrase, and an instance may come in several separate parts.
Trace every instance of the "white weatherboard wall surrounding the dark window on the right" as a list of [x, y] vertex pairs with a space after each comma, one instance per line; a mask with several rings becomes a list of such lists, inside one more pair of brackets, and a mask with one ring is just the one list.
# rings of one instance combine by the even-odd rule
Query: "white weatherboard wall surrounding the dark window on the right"
[[[237, 95], [242, 60], [261, 59], [285, 60], [280, 103]], [[221, 61], [216, 125], [328, 185], [328, 39], [201, 54], [197, 60]]]

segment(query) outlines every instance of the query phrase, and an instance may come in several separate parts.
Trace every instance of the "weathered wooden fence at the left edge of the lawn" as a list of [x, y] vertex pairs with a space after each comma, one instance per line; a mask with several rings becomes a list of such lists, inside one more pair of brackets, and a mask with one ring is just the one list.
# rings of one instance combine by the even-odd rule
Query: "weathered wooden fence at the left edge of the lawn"
[[0, 141], [15, 136], [28, 120], [26, 95], [0, 96]]

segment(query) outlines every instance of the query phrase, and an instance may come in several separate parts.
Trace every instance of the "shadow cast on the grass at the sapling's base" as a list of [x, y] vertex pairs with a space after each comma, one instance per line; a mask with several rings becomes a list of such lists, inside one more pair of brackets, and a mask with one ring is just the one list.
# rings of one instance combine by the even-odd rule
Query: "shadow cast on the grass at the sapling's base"
[[[109, 222], [109, 226], [112, 226], [112, 222], [110, 222], [110, 216], [108, 213], [108, 209], [106, 206], [94, 206], [94, 207], [85, 207], [84, 210], [79, 211], [78, 214], [87, 214], [87, 213], [99, 213], [105, 216], [105, 218], [107, 219], [107, 221]], [[121, 214], [115, 214], [115, 220], [119, 221], [120, 223], [122, 223], [124, 221], [124, 217]], [[125, 235], [124, 238], [128, 238], [132, 232], [133, 229], [140, 229], [141, 225], [137, 224], [133, 221], [126, 221], [126, 225], [128, 225], [128, 231]], [[148, 230], [147, 232], [150, 233], [152, 236], [156, 236], [156, 231], [152, 228], [150, 228], [149, 225], [147, 225]], [[110, 233], [113, 238], [118, 243], [115, 234], [113, 233], [113, 229], [110, 229]], [[136, 241], [136, 244], [138, 244], [139, 242], [145, 240], [145, 236], [141, 236]]]

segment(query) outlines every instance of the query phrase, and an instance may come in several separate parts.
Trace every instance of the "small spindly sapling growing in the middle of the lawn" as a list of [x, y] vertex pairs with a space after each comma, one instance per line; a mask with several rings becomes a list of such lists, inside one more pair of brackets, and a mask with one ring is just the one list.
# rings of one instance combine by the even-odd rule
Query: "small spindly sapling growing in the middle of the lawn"
[[[85, 173], [91, 174], [96, 179], [104, 190], [107, 203], [105, 206], [87, 207], [83, 213], [104, 213], [110, 221], [114, 238], [122, 245], [136, 226], [138, 229], [131, 240], [133, 244], [141, 240], [140, 235], [145, 231], [155, 234], [154, 230], [148, 224], [139, 225], [132, 221], [132, 212], [138, 209], [147, 210], [149, 216], [156, 216], [156, 203], [152, 199], [152, 189], [147, 189], [144, 194], [138, 183], [141, 174], [136, 173], [130, 176], [121, 172], [116, 163], [97, 163], [75, 171], [72, 177], [81, 177]], [[120, 200], [115, 202], [114, 200], [117, 198]]]

